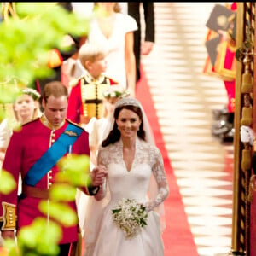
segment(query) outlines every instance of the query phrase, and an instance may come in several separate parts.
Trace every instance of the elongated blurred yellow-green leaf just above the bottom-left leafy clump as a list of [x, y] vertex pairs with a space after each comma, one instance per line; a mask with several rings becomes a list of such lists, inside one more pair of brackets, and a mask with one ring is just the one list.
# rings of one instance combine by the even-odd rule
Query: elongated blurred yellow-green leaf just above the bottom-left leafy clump
[[40, 201], [39, 210], [50, 218], [55, 219], [64, 226], [78, 224], [77, 212], [75, 212], [67, 203], [57, 201]]

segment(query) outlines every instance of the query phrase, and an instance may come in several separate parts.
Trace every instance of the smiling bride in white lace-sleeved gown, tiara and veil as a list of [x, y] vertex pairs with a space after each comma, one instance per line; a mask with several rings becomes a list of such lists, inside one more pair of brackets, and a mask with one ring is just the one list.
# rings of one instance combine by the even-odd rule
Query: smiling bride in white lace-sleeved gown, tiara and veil
[[[108, 178], [95, 196], [101, 201], [109, 188], [110, 200], [103, 207], [95, 234], [90, 234], [95, 239], [94, 247], [90, 247], [90, 252], [85, 252], [85, 255], [163, 256], [160, 216], [154, 210], [166, 200], [169, 188], [160, 150], [153, 143], [146, 142], [148, 134], [143, 130], [144, 112], [136, 99], [127, 97], [119, 100], [113, 116], [113, 130], [102, 142], [97, 157], [97, 163], [107, 167]], [[152, 175], [158, 190], [154, 198], [148, 200]], [[112, 210], [123, 198], [136, 200], [148, 212], [147, 225], [131, 238], [126, 238], [123, 230], [113, 222]], [[87, 239], [90, 240], [90, 236]]]

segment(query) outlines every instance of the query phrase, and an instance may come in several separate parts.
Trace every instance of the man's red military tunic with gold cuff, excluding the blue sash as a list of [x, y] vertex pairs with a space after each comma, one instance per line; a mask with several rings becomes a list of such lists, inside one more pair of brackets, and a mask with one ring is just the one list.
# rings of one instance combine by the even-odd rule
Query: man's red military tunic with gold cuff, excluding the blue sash
[[[53, 130], [53, 127], [43, 116], [40, 119], [23, 125], [22, 130], [15, 131], [11, 137], [9, 148], [3, 161], [3, 169], [13, 175], [16, 183], [19, 180], [19, 173], [21, 173], [23, 180], [29, 169], [49, 149], [50, 145], [61, 136], [69, 124], [71, 122], [66, 119], [60, 127]], [[67, 153], [70, 153], [68, 151], [70, 149], [68, 148], [70, 147], [67, 147]], [[73, 143], [72, 153], [90, 154], [88, 133], [86, 131], [83, 130]], [[36, 183], [35, 187], [44, 190], [50, 188], [55, 183], [55, 176], [58, 172], [57, 166], [53, 166]], [[89, 194], [87, 189], [84, 192]], [[3, 221], [2, 230], [15, 230], [15, 217], [17, 218], [17, 230], [20, 230], [23, 226], [32, 224], [32, 221], [37, 217], [45, 218], [45, 215], [38, 210], [38, 203], [42, 200], [40, 198], [26, 195], [23, 199], [17, 201], [17, 189], [15, 189], [9, 195], [0, 195], [0, 199], [0, 221]], [[69, 204], [70, 207], [77, 211], [75, 201]], [[62, 232], [61, 243], [78, 240], [78, 225], [62, 227]]]

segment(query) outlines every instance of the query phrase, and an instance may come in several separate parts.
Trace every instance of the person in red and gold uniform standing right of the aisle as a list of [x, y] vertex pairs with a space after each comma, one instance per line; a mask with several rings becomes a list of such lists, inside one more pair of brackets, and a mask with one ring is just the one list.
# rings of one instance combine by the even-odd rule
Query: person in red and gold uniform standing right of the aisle
[[[226, 24], [219, 21], [227, 19]], [[213, 110], [216, 121], [212, 125], [212, 134], [223, 141], [233, 139], [236, 85], [236, 3], [222, 6], [216, 4], [207, 21], [210, 30], [207, 33], [207, 61], [203, 72], [216, 75], [224, 81], [228, 104], [223, 110]]]

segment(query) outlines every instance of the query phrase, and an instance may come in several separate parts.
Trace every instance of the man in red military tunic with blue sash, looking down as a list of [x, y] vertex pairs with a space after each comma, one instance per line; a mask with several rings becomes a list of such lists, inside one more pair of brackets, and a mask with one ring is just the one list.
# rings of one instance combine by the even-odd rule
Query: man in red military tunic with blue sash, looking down
[[[15, 177], [18, 183], [22, 177], [22, 198], [18, 201], [17, 189], [9, 195], [0, 195], [0, 223], [3, 239], [14, 238], [16, 230], [32, 224], [32, 221], [45, 215], [39, 211], [41, 200], [49, 200], [49, 189], [56, 182], [60, 170], [56, 162], [69, 153], [90, 154], [88, 133], [66, 119], [68, 91], [61, 82], [46, 84], [43, 92], [42, 118], [22, 126], [15, 131], [7, 148], [3, 169]], [[106, 177], [103, 166], [91, 173], [90, 187], [84, 187], [87, 195], [96, 195]], [[77, 211], [75, 201], [69, 202]], [[0, 225], [1, 226], [1, 225]], [[78, 224], [62, 228], [61, 253], [66, 256], [71, 243], [78, 241]]]

